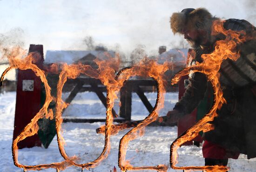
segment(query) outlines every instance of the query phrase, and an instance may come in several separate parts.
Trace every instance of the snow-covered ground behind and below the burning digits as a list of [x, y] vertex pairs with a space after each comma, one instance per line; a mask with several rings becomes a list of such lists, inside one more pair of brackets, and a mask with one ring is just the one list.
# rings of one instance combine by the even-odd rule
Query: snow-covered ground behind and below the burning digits
[[[63, 95], [64, 98], [67, 94]], [[149, 101], [155, 103], [155, 93], [148, 93]], [[13, 136], [13, 121], [15, 112], [15, 92], [8, 92], [0, 95], [0, 172], [23, 172], [13, 165], [11, 145]], [[161, 115], [165, 115], [172, 109], [177, 101], [177, 93], [168, 93], [165, 99], [165, 108]], [[115, 106], [118, 112], [118, 103]], [[81, 93], [76, 96], [72, 104], [64, 113], [66, 117], [102, 117], [104, 118], [105, 108], [94, 93]], [[143, 119], [148, 115], [147, 109], [139, 101], [138, 96], [133, 94], [132, 119]], [[89, 123], [64, 123], [63, 134], [67, 146], [68, 155], [79, 155], [82, 162], [91, 161], [99, 156], [102, 151], [104, 136], [96, 134], [95, 129], [101, 126], [102, 122]], [[107, 159], [103, 160], [100, 166], [90, 169], [91, 172], [110, 172], [117, 167], [118, 146], [121, 137], [128, 130], [111, 136], [111, 152]], [[169, 166], [170, 144], [177, 137], [177, 127], [147, 127], [144, 136], [129, 143], [127, 159], [131, 159], [134, 166], [155, 166], [166, 164]], [[184, 146], [178, 150], [179, 166], [199, 166], [204, 164], [202, 158], [202, 147]], [[37, 165], [62, 161], [59, 153], [56, 137], [48, 149], [43, 147], [24, 148], [19, 150], [19, 161], [25, 165]], [[256, 172], [256, 159], [246, 159], [240, 155], [239, 159], [230, 159], [230, 172]], [[65, 172], [80, 172], [77, 167], [69, 167]], [[86, 171], [86, 170], [84, 170]], [[41, 172], [56, 172], [55, 169], [46, 169]], [[168, 169], [168, 172], [178, 170]]]

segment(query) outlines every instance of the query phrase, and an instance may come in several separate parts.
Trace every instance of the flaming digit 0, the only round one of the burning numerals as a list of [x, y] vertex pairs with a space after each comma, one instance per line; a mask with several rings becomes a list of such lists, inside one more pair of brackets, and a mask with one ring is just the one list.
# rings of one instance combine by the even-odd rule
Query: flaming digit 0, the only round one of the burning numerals
[[89, 65], [82, 64], [64, 64], [62, 66], [62, 71], [60, 74], [60, 79], [57, 86], [57, 107], [56, 107], [56, 130], [57, 130], [57, 140], [59, 145], [59, 150], [64, 159], [70, 159], [64, 149], [65, 140], [61, 135], [61, 112], [64, 108], [67, 108], [68, 104], [61, 99], [62, 88], [67, 81], [67, 78], [75, 79], [80, 73], [87, 76], [100, 79], [101, 82], [107, 86], [107, 111], [106, 111], [106, 127], [105, 127], [105, 144], [101, 155], [92, 162], [77, 164], [74, 162], [74, 166], [80, 166], [82, 168], [94, 168], [100, 164], [103, 159], [108, 157], [110, 152], [110, 135], [111, 135], [111, 125], [113, 123], [112, 108], [114, 107], [115, 98], [117, 98], [117, 93], [120, 90], [120, 86], [115, 82], [115, 70], [119, 66], [119, 57], [110, 59], [110, 55], [106, 54], [109, 60], [100, 61], [98, 59], [95, 62], [99, 65], [98, 70], [94, 70]]

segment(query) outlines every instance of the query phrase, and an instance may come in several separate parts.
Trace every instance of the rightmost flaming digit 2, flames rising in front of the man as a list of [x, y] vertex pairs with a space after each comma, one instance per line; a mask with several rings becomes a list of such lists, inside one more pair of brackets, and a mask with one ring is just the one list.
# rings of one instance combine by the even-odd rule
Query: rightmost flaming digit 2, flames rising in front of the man
[[231, 60], [237, 60], [240, 57], [239, 51], [236, 51], [236, 45], [243, 43], [247, 39], [244, 32], [226, 31], [223, 28], [223, 21], [216, 21], [213, 25], [213, 34], [218, 33], [225, 35], [226, 39], [217, 41], [215, 50], [211, 54], [203, 54], [203, 62], [201, 64], [197, 62], [196, 65], [185, 68], [172, 79], [172, 84], [175, 84], [180, 80], [181, 76], [188, 75], [190, 70], [193, 70], [194, 72], [202, 72], [207, 76], [208, 81], [211, 82], [214, 90], [214, 103], [209, 113], [172, 143], [170, 150], [170, 165], [173, 169], [205, 170], [211, 172], [226, 172], [228, 170], [226, 166], [175, 166], [178, 163], [177, 149], [184, 142], [195, 138], [200, 131], [207, 132], [214, 129], [214, 126], [207, 122], [213, 121], [214, 117], [217, 116], [217, 109], [220, 109], [222, 104], [226, 103], [226, 100], [222, 96], [223, 93], [219, 83], [220, 74], [218, 71], [220, 70], [224, 59], [230, 58]]

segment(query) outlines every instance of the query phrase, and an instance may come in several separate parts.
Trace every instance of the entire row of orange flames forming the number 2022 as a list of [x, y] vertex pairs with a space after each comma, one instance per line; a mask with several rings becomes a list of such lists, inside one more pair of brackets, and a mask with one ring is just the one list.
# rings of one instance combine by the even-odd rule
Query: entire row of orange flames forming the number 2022
[[[205, 170], [205, 171], [218, 171], [225, 172], [227, 171], [226, 166], [187, 166], [187, 167], [176, 167], [178, 163], [177, 158], [177, 149], [186, 141], [193, 139], [200, 131], [207, 132], [214, 129], [210, 125], [209, 121], [213, 121], [214, 117], [217, 116], [216, 110], [222, 107], [223, 103], [226, 103], [226, 100], [223, 98], [223, 93], [220, 88], [219, 83], [219, 69], [224, 59], [230, 58], [232, 60], [237, 60], [240, 57], [239, 51], [236, 52], [236, 45], [243, 43], [246, 40], [246, 35], [244, 32], [234, 32], [234, 31], [225, 31], [223, 28], [223, 22], [218, 21], [214, 24], [213, 34], [222, 33], [227, 38], [225, 40], [217, 41], [215, 51], [211, 54], [202, 55], [203, 62], [201, 64], [196, 63], [194, 66], [190, 66], [179, 72], [172, 80], [172, 84], [175, 84], [179, 81], [181, 76], [188, 75], [190, 70], [195, 72], [204, 73], [208, 80], [212, 83], [214, 89], [214, 104], [210, 109], [209, 113], [205, 115], [200, 121], [198, 121], [193, 127], [189, 128], [186, 133], [178, 137], [171, 145], [170, 152], [170, 165], [174, 169], [184, 169], [184, 170]], [[157, 166], [140, 166], [134, 167], [126, 160], [126, 153], [129, 141], [135, 140], [137, 137], [144, 134], [145, 127], [153, 121], [156, 121], [158, 117], [159, 110], [163, 108], [164, 93], [166, 86], [166, 81], [164, 79], [164, 72], [168, 69], [173, 69], [174, 65], [170, 63], [157, 64], [154, 60], [149, 60], [147, 58], [141, 60], [140, 63], [135, 64], [132, 67], [125, 68], [121, 70], [117, 75], [115, 71], [119, 68], [119, 58], [112, 58], [111, 60], [96, 60], [99, 68], [94, 70], [89, 65], [83, 64], [53, 64], [46, 71], [51, 71], [54, 73], [59, 73], [58, 69], [61, 68], [59, 82], [57, 85], [57, 97], [56, 99], [51, 96], [49, 87], [45, 75], [45, 71], [38, 68], [36, 64], [37, 59], [39, 59], [38, 53], [30, 53], [27, 56], [25, 55], [26, 51], [21, 50], [20, 48], [13, 49], [13, 51], [7, 54], [10, 66], [7, 70], [4, 71], [0, 78], [0, 82], [3, 80], [4, 76], [9, 70], [17, 69], [27, 70], [31, 69], [34, 71], [36, 76], [39, 76], [41, 81], [45, 85], [46, 89], [46, 101], [40, 111], [34, 116], [29, 124], [23, 129], [20, 135], [13, 140], [12, 150], [13, 150], [13, 161], [14, 165], [24, 170], [41, 170], [44, 168], [56, 168], [57, 170], [64, 170], [68, 166], [80, 166], [81, 168], [94, 168], [100, 164], [103, 159], [106, 159], [110, 151], [110, 136], [111, 134], [118, 133], [119, 130], [125, 129], [127, 127], [132, 128], [127, 134], [125, 134], [119, 145], [118, 153], [118, 166], [121, 168], [122, 172], [127, 170], [156, 170], [156, 171], [167, 171], [168, 167], [165, 165]], [[77, 157], [69, 157], [65, 152], [64, 145], [65, 140], [61, 134], [61, 124], [62, 124], [62, 110], [67, 108], [68, 104], [61, 99], [62, 88], [66, 83], [67, 79], [75, 79], [80, 74], [84, 74], [96, 79], [100, 79], [102, 84], [107, 87], [107, 111], [106, 111], [106, 124], [101, 126], [99, 129], [101, 133], [105, 133], [105, 143], [101, 155], [92, 162], [77, 164], [75, 161]], [[132, 126], [127, 124], [113, 125], [113, 114], [112, 108], [114, 107], [114, 102], [118, 98], [117, 94], [120, 91], [123, 83], [129, 79], [131, 76], [150, 76], [157, 83], [157, 99], [155, 107], [152, 112], [142, 121], [136, 123]], [[51, 163], [51, 164], [41, 164], [35, 166], [22, 165], [18, 161], [18, 142], [24, 140], [26, 137], [30, 137], [37, 133], [39, 127], [37, 121], [40, 118], [54, 118], [53, 110], [47, 109], [49, 103], [56, 101], [56, 131], [57, 131], [57, 141], [61, 155], [65, 159], [62, 162]]]

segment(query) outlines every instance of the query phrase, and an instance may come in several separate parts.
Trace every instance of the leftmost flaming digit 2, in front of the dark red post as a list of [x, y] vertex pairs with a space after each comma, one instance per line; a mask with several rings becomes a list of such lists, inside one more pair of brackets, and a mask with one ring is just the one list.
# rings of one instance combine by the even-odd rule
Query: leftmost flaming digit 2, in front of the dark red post
[[50, 118], [53, 119], [53, 111], [52, 109], [47, 110], [49, 103], [54, 101], [54, 97], [51, 96], [50, 91], [51, 88], [49, 87], [47, 83], [47, 79], [45, 76], [45, 73], [43, 70], [40, 70], [36, 64], [37, 59], [39, 59], [40, 54], [38, 53], [29, 53], [26, 56], [26, 51], [20, 49], [19, 47], [14, 48], [10, 53], [7, 54], [7, 58], [9, 61], [10, 66], [7, 68], [7, 70], [4, 71], [4, 73], [1, 76], [0, 81], [4, 79], [4, 76], [7, 74], [9, 70], [12, 69], [20, 69], [20, 70], [27, 70], [31, 69], [34, 71], [36, 76], [39, 76], [41, 81], [45, 85], [46, 89], [46, 101], [43, 107], [40, 109], [40, 111], [34, 116], [34, 118], [31, 120], [29, 124], [23, 129], [23, 131], [17, 136], [15, 140], [13, 140], [12, 144], [12, 152], [13, 152], [13, 162], [15, 166], [18, 166], [20, 168], [23, 168], [24, 170], [40, 170], [42, 168], [57, 168], [59, 170], [65, 169], [67, 166], [72, 166], [72, 160], [64, 160], [62, 162], [58, 163], [52, 163], [52, 164], [41, 164], [41, 165], [34, 165], [34, 166], [27, 166], [22, 165], [18, 161], [18, 142], [21, 140], [24, 140], [27, 137], [30, 137], [37, 133], [39, 126], [37, 125], [37, 121], [40, 118]]

